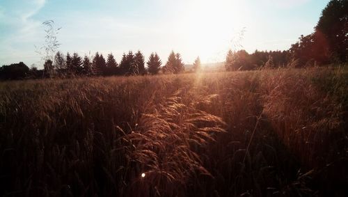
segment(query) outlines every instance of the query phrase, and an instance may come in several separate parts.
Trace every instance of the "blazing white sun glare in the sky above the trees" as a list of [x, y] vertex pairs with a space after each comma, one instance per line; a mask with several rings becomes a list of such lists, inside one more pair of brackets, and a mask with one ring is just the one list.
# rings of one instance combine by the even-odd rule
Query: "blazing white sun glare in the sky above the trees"
[[234, 0], [195, 0], [183, 15], [184, 40], [203, 61], [225, 54], [233, 33], [246, 26], [242, 3]]

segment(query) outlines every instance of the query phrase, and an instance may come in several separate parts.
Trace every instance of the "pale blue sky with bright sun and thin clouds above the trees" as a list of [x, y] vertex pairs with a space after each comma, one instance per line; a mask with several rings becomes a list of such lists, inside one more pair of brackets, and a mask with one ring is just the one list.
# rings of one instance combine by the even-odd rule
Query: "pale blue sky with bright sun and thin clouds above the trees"
[[42, 68], [45, 26], [52, 19], [66, 53], [116, 61], [129, 50], [165, 63], [173, 50], [184, 63], [223, 61], [228, 49], [289, 49], [313, 32], [329, 0], [0, 0], [0, 65]]

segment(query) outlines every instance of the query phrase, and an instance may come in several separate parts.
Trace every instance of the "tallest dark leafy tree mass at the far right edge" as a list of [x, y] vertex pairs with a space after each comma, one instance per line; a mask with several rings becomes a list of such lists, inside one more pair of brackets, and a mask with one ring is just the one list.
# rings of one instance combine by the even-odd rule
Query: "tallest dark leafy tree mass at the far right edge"
[[348, 0], [331, 0], [307, 36], [291, 46], [290, 52], [300, 65], [324, 65], [348, 61]]

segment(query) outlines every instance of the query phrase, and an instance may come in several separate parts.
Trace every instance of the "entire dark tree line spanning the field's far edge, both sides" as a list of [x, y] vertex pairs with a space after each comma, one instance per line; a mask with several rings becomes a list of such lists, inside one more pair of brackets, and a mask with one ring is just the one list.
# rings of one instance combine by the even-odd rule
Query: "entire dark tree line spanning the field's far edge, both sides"
[[[48, 31], [52, 31], [49, 21]], [[49, 43], [58, 47], [56, 37]], [[50, 39], [52, 40], [52, 39]], [[50, 47], [45, 45], [46, 54]], [[47, 55], [48, 57], [48, 55]], [[284, 51], [258, 51], [248, 54], [245, 50], [226, 54], [226, 70], [254, 70], [258, 68], [280, 68], [291, 65], [297, 68], [308, 65], [326, 65], [330, 63], [346, 63], [348, 60], [348, 0], [331, 0], [319, 18], [314, 32], [299, 38], [290, 49]], [[73, 76], [111, 76], [111, 75], [143, 75], [184, 72], [184, 63], [179, 53], [171, 52], [164, 66], [157, 53], [152, 53], [146, 62], [143, 54], [129, 51], [122, 55], [118, 64], [113, 54], [106, 58], [100, 53], [94, 56], [81, 57], [77, 53], [56, 52], [54, 57], [45, 58], [43, 70], [29, 68], [22, 62], [3, 65], [0, 68], [0, 79], [23, 79], [42, 77]], [[200, 70], [200, 58], [193, 63], [193, 70]]]

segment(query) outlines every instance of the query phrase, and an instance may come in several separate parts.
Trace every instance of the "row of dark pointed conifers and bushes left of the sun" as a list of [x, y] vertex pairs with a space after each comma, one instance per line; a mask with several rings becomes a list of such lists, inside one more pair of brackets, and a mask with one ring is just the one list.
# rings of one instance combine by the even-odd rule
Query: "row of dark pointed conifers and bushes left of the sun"
[[[145, 66], [146, 65], [146, 66]], [[43, 70], [33, 67], [29, 69], [24, 63], [3, 65], [0, 68], [0, 79], [37, 79], [48, 77], [79, 77], [79, 76], [113, 76], [113, 75], [144, 75], [144, 74], [178, 74], [184, 72], [184, 63], [179, 53], [171, 52], [164, 66], [157, 53], [150, 54], [148, 61], [141, 51], [135, 54], [129, 51], [122, 54], [117, 63], [112, 53], [104, 58], [96, 52], [94, 56], [79, 56], [76, 52], [63, 54], [56, 52], [53, 60], [47, 59]]]

